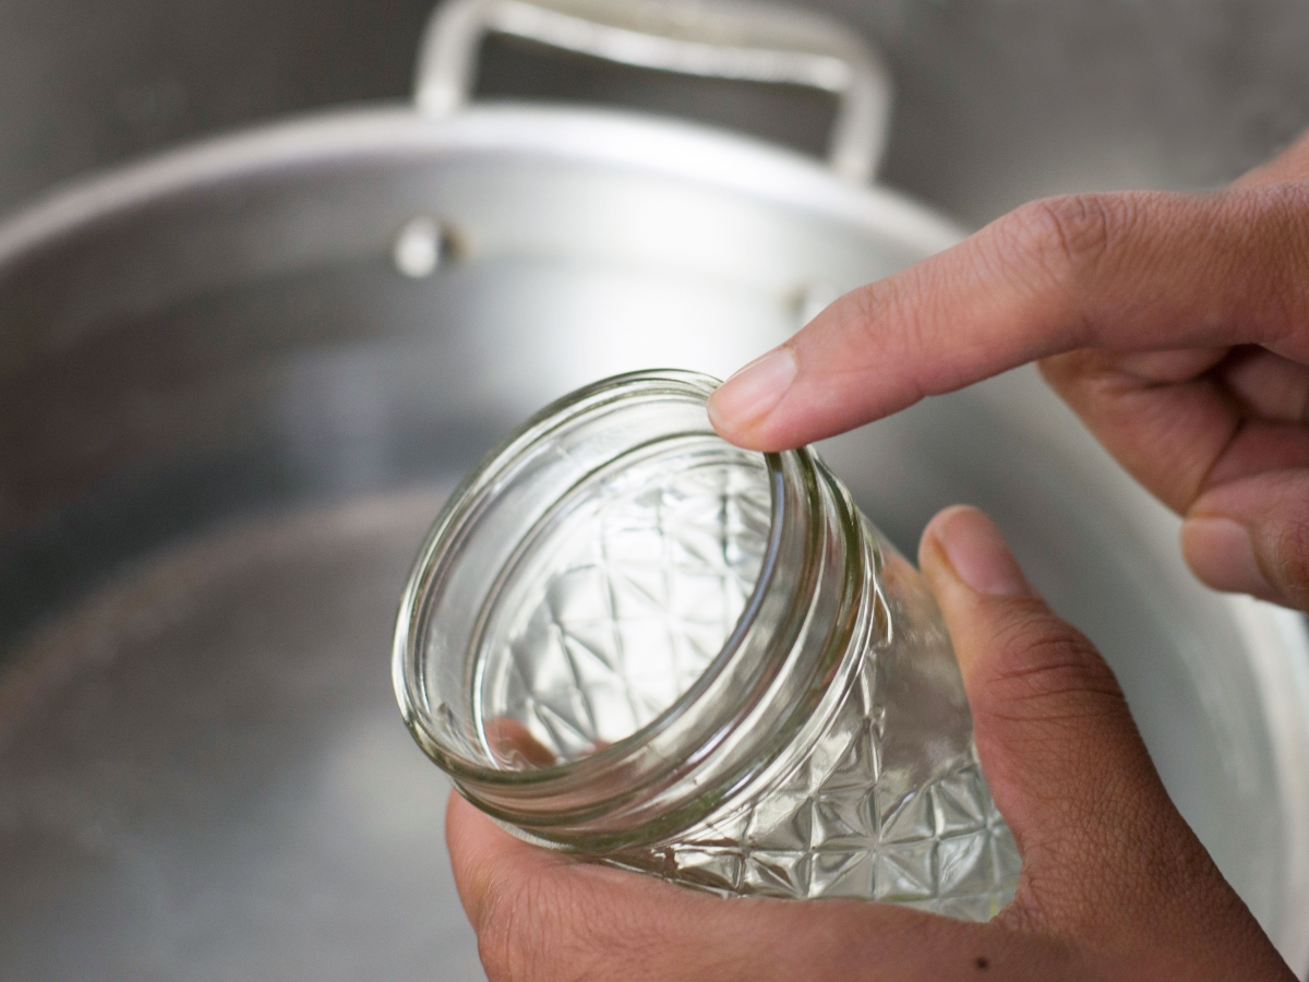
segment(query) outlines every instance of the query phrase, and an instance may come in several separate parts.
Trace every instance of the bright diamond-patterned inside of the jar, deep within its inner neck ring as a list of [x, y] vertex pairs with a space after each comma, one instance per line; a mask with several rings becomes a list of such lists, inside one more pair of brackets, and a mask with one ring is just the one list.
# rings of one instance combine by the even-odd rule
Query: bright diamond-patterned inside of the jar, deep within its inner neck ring
[[672, 707], [736, 630], [770, 522], [763, 456], [713, 435], [635, 448], [571, 488], [505, 564], [473, 640], [495, 766], [576, 761]]

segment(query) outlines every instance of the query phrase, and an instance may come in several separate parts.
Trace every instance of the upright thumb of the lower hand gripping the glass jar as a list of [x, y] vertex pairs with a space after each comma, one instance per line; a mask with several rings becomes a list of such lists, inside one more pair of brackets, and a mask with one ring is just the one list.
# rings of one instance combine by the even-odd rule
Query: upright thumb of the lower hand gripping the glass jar
[[941, 512], [920, 563], [1024, 858], [1003, 917], [1118, 951], [1185, 943], [1198, 913], [1247, 934], [1253, 919], [1169, 800], [1109, 665], [1035, 594], [990, 518]]

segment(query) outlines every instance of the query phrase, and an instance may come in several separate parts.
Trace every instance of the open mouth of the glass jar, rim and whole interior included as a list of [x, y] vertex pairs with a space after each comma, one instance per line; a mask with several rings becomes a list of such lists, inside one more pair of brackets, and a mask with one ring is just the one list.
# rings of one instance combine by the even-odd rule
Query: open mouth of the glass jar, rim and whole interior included
[[535, 780], [632, 746], [732, 663], [784, 522], [775, 465], [709, 426], [716, 385], [657, 371], [579, 390], [448, 503], [395, 666], [415, 737], [449, 773]]

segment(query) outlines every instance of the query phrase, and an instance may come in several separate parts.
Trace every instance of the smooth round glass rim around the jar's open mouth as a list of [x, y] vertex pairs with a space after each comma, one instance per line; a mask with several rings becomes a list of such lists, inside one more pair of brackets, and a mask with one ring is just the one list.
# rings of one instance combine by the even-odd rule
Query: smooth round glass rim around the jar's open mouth
[[[708, 374], [683, 369], [645, 369], [603, 378], [577, 389], [533, 415], [504, 441], [491, 450], [478, 466], [450, 494], [437, 515], [419, 550], [418, 559], [402, 594], [397, 615], [393, 648], [393, 681], [406, 725], [419, 746], [450, 775], [456, 783], [470, 782], [480, 788], [535, 788], [590, 782], [622, 763], [640, 746], [665, 732], [685, 716], [689, 708], [703, 698], [737, 655], [742, 640], [755, 623], [763, 597], [774, 583], [781, 546], [785, 518], [784, 454], [761, 454], [768, 473], [770, 529], [759, 575], [737, 622], [723, 642], [719, 652], [696, 680], [660, 711], [654, 719], [634, 729], [630, 735], [601, 748], [586, 757], [563, 761], [547, 767], [511, 770], [487, 766], [469, 758], [440, 732], [440, 724], [427, 693], [425, 682], [425, 601], [433, 594], [433, 584], [440, 577], [448, 554], [458, 547], [458, 539], [470, 520], [493, 494], [497, 478], [503, 477], [528, 449], [551, 432], [579, 423], [589, 414], [603, 411], [614, 402], [639, 395], [682, 395], [708, 399], [721, 382]], [[795, 452], [785, 452], [800, 457]], [[630, 791], [631, 786], [623, 788]], [[488, 809], [493, 810], [495, 809]]]

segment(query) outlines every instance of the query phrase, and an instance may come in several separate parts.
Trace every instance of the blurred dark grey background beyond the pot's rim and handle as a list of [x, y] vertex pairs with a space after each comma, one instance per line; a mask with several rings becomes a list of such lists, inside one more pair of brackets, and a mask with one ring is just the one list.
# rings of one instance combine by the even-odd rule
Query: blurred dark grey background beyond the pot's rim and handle
[[[885, 54], [886, 183], [979, 225], [1047, 194], [1220, 185], [1309, 126], [1299, 0], [801, 0]], [[0, 213], [93, 168], [412, 81], [424, 0], [3, 0]], [[486, 94], [732, 120], [821, 145], [813, 103], [643, 84], [493, 43]], [[569, 62], [560, 71], [560, 64]], [[749, 111], [750, 102], [754, 111]], [[742, 111], [745, 110], [745, 111]]]

